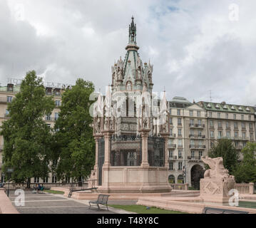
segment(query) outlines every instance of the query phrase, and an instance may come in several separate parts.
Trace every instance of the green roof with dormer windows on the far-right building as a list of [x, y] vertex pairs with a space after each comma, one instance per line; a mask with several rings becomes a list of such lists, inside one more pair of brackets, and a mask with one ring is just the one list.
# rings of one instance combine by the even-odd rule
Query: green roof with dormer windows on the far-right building
[[252, 106], [246, 105], [232, 105], [227, 103], [212, 103], [206, 101], [200, 101], [199, 104], [208, 111], [226, 112], [226, 113], [242, 113], [242, 114], [254, 114], [255, 109]]

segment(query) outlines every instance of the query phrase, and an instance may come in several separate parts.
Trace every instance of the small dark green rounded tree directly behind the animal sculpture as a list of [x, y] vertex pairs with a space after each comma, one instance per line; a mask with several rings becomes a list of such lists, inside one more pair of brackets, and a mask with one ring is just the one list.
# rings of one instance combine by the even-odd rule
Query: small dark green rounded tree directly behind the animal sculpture
[[221, 138], [208, 153], [209, 157], [222, 157], [224, 167], [230, 172], [235, 171], [238, 165], [239, 153], [235, 149], [232, 140]]

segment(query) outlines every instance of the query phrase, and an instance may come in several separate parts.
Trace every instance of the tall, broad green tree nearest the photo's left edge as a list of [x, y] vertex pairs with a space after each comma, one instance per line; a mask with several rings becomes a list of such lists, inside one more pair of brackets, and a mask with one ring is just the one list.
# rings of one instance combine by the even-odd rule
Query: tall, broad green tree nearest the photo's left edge
[[52, 97], [46, 97], [42, 78], [35, 71], [26, 73], [21, 90], [8, 104], [9, 120], [1, 126], [4, 136], [4, 170], [14, 167], [11, 179], [27, 182], [31, 177], [46, 177], [51, 156], [51, 129], [43, 116], [54, 107]]

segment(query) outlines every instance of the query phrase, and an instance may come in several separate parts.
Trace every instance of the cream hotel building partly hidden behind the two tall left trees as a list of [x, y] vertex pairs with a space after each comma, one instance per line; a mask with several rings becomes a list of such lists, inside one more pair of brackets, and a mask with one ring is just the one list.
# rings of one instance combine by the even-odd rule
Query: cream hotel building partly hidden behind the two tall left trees
[[[1, 86], [0, 87], [0, 125], [7, 120], [9, 117], [9, 111], [7, 109], [8, 103], [11, 103], [11, 101], [15, 98], [16, 93], [19, 93], [20, 86], [16, 86], [14, 84], [7, 84], [7, 86]], [[51, 126], [53, 128], [55, 121], [58, 119], [58, 113], [60, 112], [60, 105], [61, 105], [61, 94], [63, 93], [63, 90], [61, 88], [51, 88], [46, 87], [46, 95], [53, 95], [53, 100], [56, 104], [55, 108], [53, 109], [53, 112], [49, 115], [46, 115], [44, 117], [44, 120], [46, 121], [48, 126]], [[2, 160], [2, 154], [4, 149], [4, 138], [0, 136], [0, 177], [1, 181], [4, 182], [4, 175], [2, 175], [1, 167], [3, 165]], [[46, 178], [45, 180], [39, 179], [39, 177], [32, 178], [31, 182], [56, 182], [56, 177], [54, 175], [51, 175]]]

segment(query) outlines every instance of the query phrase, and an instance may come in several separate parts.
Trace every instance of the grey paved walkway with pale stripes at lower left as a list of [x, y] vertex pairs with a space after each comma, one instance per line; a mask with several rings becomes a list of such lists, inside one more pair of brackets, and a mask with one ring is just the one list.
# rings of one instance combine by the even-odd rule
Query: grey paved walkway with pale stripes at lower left
[[[12, 204], [16, 195], [14, 192], [10, 192], [9, 198]], [[135, 202], [133, 202], [135, 203]], [[113, 201], [109, 204], [129, 204], [128, 201]], [[131, 204], [131, 202], [130, 202]], [[16, 207], [16, 206], [15, 206]], [[126, 212], [119, 209], [106, 207], [98, 209], [97, 206], [89, 209], [88, 200], [85, 199], [70, 199], [63, 197], [63, 195], [52, 195], [48, 193], [33, 194], [31, 191], [25, 192], [25, 206], [16, 207], [21, 214], [127, 214]]]

